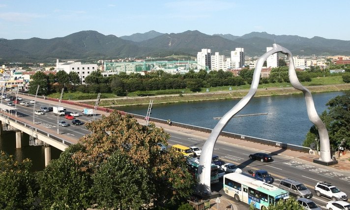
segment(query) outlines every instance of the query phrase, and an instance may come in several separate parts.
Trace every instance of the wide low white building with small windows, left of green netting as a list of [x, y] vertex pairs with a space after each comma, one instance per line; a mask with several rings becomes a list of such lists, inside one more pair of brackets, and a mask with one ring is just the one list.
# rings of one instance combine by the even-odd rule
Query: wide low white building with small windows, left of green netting
[[85, 77], [88, 76], [92, 71], [97, 70], [97, 64], [82, 64], [81, 62], [67, 61], [58, 62], [56, 61], [56, 71], [65, 71], [67, 74], [74, 71], [77, 72], [81, 78], [82, 84], [85, 84]]

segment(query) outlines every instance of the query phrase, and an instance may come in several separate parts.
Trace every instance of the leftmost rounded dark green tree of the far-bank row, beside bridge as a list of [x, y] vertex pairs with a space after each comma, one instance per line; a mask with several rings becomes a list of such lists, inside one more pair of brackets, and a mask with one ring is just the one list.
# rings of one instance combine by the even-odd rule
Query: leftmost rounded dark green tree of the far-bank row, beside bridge
[[29, 94], [35, 95], [36, 89], [39, 87], [38, 95], [46, 95], [48, 93], [48, 77], [42, 71], [37, 71], [31, 75], [29, 83]]

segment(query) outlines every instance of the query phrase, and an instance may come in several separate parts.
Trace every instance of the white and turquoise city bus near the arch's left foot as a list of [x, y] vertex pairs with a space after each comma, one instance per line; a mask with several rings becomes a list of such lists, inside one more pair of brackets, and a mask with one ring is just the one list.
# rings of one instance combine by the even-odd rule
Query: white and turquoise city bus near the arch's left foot
[[266, 210], [269, 205], [289, 198], [288, 191], [239, 173], [224, 175], [223, 184], [227, 195], [249, 205], [253, 202], [259, 210]]

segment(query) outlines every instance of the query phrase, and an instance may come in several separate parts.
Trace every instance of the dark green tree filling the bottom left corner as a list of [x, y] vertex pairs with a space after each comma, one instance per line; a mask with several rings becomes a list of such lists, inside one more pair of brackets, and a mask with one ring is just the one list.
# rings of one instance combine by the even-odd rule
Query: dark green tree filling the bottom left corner
[[31, 161], [17, 162], [12, 155], [0, 154], [0, 209], [34, 209], [35, 179], [29, 169]]

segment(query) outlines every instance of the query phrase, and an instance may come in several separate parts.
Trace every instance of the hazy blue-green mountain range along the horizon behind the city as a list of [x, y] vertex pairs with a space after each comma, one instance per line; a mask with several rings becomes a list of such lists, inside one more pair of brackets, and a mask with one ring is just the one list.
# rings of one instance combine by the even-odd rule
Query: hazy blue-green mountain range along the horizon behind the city
[[277, 43], [293, 56], [350, 55], [350, 41], [306, 38], [297, 35], [274, 35], [251, 32], [242, 36], [204, 34], [198, 30], [160, 33], [154, 30], [117, 37], [94, 30], [84, 30], [52, 39], [0, 39], [0, 61], [56, 62], [59, 60], [109, 60], [118, 58], [197, 56], [201, 49], [211, 49], [229, 56], [235, 48], [244, 48], [246, 56], [261, 56], [266, 47]]

